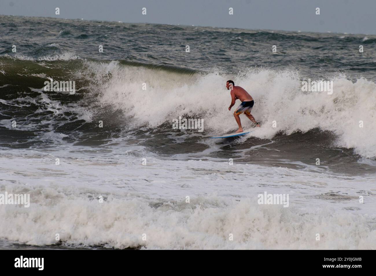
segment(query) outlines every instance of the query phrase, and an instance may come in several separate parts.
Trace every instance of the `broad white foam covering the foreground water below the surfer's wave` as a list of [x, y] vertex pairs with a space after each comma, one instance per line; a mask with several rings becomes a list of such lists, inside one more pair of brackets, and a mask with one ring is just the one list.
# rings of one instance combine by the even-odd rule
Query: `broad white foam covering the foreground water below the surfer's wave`
[[[147, 154], [138, 146], [132, 150]], [[0, 190], [30, 194], [31, 203], [27, 210], [0, 206], [7, 221], [0, 224], [0, 238], [46, 245], [58, 233], [75, 246], [147, 249], [376, 249], [374, 175], [349, 179], [154, 157], [143, 166], [141, 158], [121, 152], [99, 157], [64, 146], [2, 153]], [[290, 206], [258, 205], [264, 191], [290, 194]]]

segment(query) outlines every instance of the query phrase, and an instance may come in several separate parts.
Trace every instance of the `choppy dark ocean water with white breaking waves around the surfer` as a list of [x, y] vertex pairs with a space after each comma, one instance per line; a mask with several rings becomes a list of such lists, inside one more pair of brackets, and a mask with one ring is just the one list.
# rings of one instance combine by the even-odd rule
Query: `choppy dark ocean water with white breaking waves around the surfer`
[[[1, 249], [376, 249], [375, 35], [3, 15], [0, 33], [0, 194], [30, 194], [0, 205]], [[237, 129], [228, 79], [262, 127], [209, 139]]]

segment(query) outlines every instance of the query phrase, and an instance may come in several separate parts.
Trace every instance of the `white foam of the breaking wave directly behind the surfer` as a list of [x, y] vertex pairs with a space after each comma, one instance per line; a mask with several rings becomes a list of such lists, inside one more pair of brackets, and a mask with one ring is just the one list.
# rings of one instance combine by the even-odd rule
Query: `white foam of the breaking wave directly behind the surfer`
[[[182, 75], [143, 67], [88, 63], [93, 91], [102, 91], [99, 101], [123, 110], [133, 127], [158, 127], [186, 114], [204, 118], [206, 130], [224, 133], [235, 130], [227, 79], [245, 88], [255, 100], [252, 110], [262, 128], [253, 136], [271, 138], [279, 131], [291, 134], [314, 128], [336, 134], [335, 145], [354, 148], [363, 157], [376, 156], [376, 84], [360, 78], [356, 82], [345, 76], [334, 76], [334, 92], [302, 92], [300, 76], [291, 70], [254, 70], [246, 76]], [[88, 73], [86, 72], [86, 73]], [[111, 73], [109, 82], [99, 85]], [[106, 78], [107, 79], [107, 78]], [[147, 90], [142, 90], [146, 83]], [[161, 108], [163, 107], [163, 108]], [[252, 124], [241, 115], [244, 127]], [[273, 127], [273, 122], [276, 127]], [[359, 125], [363, 123], [363, 127]]]

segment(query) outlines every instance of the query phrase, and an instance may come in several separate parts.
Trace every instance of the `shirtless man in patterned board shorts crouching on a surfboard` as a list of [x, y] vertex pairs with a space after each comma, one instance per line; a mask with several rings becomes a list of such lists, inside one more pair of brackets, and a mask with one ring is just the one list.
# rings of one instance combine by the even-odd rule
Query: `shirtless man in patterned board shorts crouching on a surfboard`
[[253, 98], [251, 95], [248, 94], [246, 90], [241, 88], [240, 86], [235, 86], [233, 81], [227, 81], [226, 82], [226, 88], [227, 90], [230, 90], [232, 88], [230, 95], [231, 95], [231, 104], [229, 106], [229, 110], [231, 110], [231, 107], [235, 104], [235, 101], [237, 99], [240, 99], [241, 104], [238, 106], [237, 110], [234, 112], [234, 117], [236, 122], [238, 123], [239, 129], [236, 131], [243, 132], [243, 128], [241, 127], [240, 123], [240, 117], [239, 115], [244, 112], [244, 114], [250, 119], [253, 123], [255, 123], [256, 127], [259, 127], [260, 125], [258, 122], [256, 122], [255, 118], [251, 114], [251, 110], [253, 107]]

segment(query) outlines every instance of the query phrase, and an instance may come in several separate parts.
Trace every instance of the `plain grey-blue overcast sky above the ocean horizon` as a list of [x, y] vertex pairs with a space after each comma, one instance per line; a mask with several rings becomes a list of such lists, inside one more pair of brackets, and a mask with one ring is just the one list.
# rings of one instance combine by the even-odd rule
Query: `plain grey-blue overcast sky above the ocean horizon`
[[376, 0], [0, 0], [0, 14], [376, 34]]

